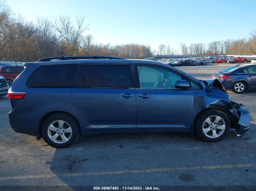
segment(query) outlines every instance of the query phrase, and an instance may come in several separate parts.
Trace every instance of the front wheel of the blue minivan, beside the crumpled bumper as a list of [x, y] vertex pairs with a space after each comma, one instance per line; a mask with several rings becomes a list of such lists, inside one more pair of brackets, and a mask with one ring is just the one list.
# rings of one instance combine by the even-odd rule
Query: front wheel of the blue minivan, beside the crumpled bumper
[[[214, 125], [215, 120], [217, 123]], [[209, 109], [198, 116], [195, 130], [202, 141], [216, 142], [228, 134], [230, 125], [230, 119], [226, 113], [218, 109]]]

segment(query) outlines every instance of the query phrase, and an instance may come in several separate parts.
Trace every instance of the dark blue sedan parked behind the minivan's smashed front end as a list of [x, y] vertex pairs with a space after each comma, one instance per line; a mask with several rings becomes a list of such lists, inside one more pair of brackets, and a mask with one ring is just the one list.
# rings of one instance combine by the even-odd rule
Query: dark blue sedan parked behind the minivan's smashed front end
[[230, 66], [213, 73], [212, 79], [218, 79], [227, 90], [237, 94], [256, 90], [256, 64]]

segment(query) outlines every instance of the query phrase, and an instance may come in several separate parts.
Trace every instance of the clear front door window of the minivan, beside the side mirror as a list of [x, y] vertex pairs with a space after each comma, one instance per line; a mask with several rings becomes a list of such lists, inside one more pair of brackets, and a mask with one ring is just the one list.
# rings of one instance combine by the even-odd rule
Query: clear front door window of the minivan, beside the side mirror
[[175, 82], [182, 80], [180, 74], [158, 66], [138, 65], [138, 72], [142, 89], [174, 90]]

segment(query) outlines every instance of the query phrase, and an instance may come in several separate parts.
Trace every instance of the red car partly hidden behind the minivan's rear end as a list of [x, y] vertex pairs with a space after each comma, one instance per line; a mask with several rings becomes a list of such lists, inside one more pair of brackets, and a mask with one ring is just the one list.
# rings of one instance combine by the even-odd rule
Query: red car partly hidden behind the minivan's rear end
[[11, 87], [12, 82], [23, 70], [24, 66], [4, 66], [0, 68], [0, 76], [5, 77], [5, 81], [8, 83], [9, 87]]

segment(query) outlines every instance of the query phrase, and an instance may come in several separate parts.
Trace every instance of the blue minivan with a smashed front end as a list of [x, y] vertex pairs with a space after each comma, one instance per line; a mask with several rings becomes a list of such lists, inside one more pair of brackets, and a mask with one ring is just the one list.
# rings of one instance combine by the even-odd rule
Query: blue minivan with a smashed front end
[[62, 56], [24, 65], [8, 91], [10, 125], [55, 148], [97, 133], [188, 132], [215, 142], [249, 129], [250, 113], [217, 79], [159, 62]]

